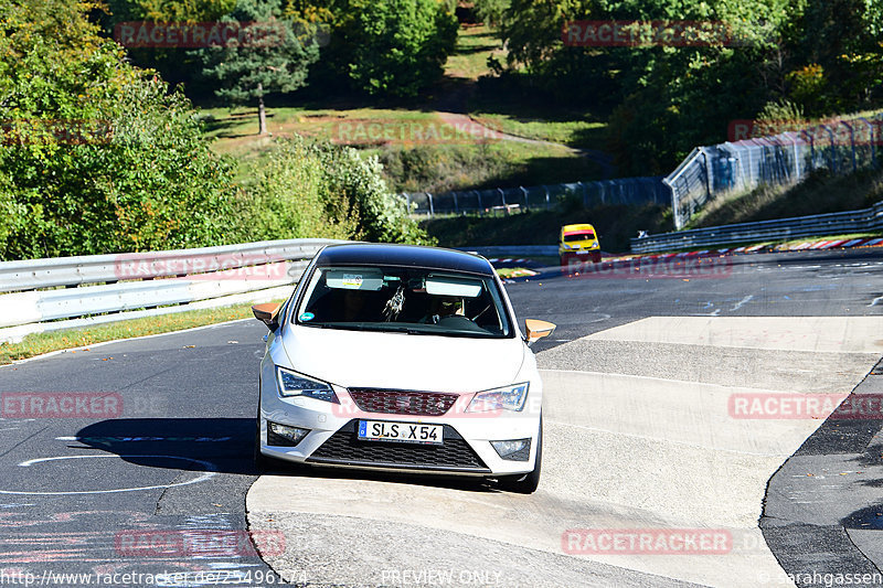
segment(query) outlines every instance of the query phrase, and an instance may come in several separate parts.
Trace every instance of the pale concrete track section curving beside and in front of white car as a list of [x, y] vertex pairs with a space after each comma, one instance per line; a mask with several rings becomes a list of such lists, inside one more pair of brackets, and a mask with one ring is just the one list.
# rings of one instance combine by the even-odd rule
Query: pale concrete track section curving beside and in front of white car
[[[426, 585], [427, 571], [444, 570], [486, 586], [792, 585], [758, 518], [767, 481], [825, 416], [737, 417], [732, 398], [836, 406], [880, 360], [881, 333], [881, 317], [656, 317], [594, 333], [538, 355], [536, 493], [358, 472], [264, 475], [247, 496], [249, 525], [283, 531], [288, 548], [267, 562], [316, 585], [401, 586], [403, 573]], [[605, 550], [568, 543], [571, 530], [723, 533], [728, 543], [689, 555]]]

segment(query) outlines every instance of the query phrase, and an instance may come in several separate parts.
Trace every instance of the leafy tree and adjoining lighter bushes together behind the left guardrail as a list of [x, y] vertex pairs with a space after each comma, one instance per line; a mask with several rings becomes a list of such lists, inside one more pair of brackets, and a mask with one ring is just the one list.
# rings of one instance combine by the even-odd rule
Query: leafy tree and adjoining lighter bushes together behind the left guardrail
[[180, 89], [129, 64], [92, 1], [0, 0], [0, 259], [267, 238], [428, 243], [376, 158], [302, 138], [237, 178]]

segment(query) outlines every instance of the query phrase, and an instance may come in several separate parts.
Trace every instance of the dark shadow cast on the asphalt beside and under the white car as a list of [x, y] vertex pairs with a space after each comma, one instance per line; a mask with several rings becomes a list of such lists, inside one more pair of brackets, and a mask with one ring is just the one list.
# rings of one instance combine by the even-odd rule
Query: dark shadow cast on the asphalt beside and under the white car
[[273, 460], [265, 471], [254, 464], [255, 421], [252, 418], [128, 418], [83, 427], [71, 449], [100, 450], [146, 468], [216, 471], [241, 475], [370, 480], [411, 485], [497, 492], [481, 478], [408, 474], [301, 466]]

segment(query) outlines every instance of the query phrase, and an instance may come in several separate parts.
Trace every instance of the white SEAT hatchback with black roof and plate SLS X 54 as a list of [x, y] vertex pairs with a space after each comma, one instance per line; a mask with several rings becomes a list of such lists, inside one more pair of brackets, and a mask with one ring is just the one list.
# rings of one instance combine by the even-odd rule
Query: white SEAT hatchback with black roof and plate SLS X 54
[[449, 473], [533, 492], [543, 385], [483, 257], [435, 247], [323, 248], [270, 330], [255, 459]]

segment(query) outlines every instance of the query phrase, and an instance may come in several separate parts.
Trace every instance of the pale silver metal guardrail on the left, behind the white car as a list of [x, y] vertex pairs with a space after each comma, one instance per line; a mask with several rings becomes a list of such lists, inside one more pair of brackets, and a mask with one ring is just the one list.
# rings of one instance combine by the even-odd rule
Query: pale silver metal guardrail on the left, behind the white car
[[0, 292], [7, 293], [0, 295], [0, 342], [35, 332], [283, 298], [316, 253], [332, 243], [342, 242], [267, 240], [3, 261]]

